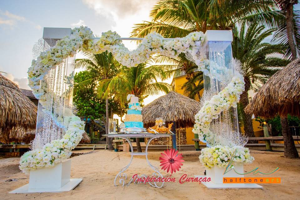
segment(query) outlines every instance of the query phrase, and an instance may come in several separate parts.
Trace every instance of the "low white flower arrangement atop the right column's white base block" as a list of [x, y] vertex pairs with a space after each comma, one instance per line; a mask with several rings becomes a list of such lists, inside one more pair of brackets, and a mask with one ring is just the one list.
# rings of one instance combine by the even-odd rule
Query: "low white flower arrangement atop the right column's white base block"
[[[212, 168], [213, 166], [226, 168], [235, 151], [236, 154], [232, 158], [233, 164], [251, 164], [254, 161], [254, 158], [250, 155], [248, 148], [223, 145], [216, 145], [201, 149], [201, 155], [199, 156], [199, 159], [200, 162], [208, 169]], [[230, 168], [234, 168], [234, 166], [231, 165]]]

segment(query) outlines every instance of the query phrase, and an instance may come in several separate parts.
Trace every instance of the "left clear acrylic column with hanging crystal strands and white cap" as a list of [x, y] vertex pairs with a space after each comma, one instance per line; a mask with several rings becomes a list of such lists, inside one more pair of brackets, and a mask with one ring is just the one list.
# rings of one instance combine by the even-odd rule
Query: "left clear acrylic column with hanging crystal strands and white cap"
[[[44, 48], [53, 47], [58, 39], [70, 35], [69, 28], [44, 28]], [[41, 81], [47, 86], [46, 104], [38, 103], [36, 136], [32, 149], [42, 148], [46, 143], [60, 139], [65, 133], [63, 120], [70, 115], [73, 105], [75, 56], [66, 58], [51, 69]]]

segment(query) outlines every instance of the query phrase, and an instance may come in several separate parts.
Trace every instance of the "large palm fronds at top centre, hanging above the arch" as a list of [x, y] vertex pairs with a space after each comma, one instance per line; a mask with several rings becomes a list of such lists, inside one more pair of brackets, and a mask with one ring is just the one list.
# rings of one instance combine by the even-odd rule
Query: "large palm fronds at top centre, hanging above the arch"
[[150, 11], [152, 21], [136, 24], [132, 36], [155, 31], [164, 37], [183, 37], [194, 31], [231, 30], [247, 17], [268, 22], [275, 8], [273, 0], [161, 0]]

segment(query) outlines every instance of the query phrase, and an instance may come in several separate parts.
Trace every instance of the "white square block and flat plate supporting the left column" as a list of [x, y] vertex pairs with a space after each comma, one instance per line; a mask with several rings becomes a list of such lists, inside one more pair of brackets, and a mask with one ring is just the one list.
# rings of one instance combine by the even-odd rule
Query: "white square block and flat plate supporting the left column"
[[57, 163], [52, 168], [32, 170], [29, 183], [9, 193], [70, 191], [82, 181], [82, 178], [70, 179], [70, 173], [70, 159]]

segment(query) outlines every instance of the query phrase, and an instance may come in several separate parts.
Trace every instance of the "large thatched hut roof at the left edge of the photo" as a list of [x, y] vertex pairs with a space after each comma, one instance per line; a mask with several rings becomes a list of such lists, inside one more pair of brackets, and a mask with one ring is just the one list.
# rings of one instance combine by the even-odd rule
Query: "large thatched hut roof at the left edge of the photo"
[[[35, 129], [37, 120], [37, 107], [26, 96], [15, 83], [2, 76], [0, 73], [0, 141], [10, 142], [8, 136], [18, 131]], [[30, 134], [30, 133], [29, 133]], [[19, 138], [21, 138], [20, 135]]]

